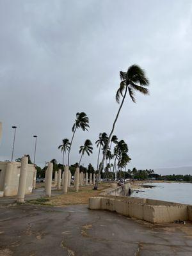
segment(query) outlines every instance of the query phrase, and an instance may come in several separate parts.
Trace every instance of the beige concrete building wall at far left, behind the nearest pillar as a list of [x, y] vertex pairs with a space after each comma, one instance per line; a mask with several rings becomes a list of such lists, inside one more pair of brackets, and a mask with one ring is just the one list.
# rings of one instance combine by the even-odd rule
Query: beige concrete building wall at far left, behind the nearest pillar
[[[8, 182], [6, 180], [6, 167], [9, 162], [0, 162], [0, 191], [4, 191], [4, 196], [15, 196], [17, 195], [19, 176], [20, 176], [20, 163], [12, 162], [10, 177]], [[28, 176], [26, 180], [26, 191], [25, 194], [28, 195], [33, 189], [33, 175], [35, 172], [35, 167], [33, 164], [28, 164]]]

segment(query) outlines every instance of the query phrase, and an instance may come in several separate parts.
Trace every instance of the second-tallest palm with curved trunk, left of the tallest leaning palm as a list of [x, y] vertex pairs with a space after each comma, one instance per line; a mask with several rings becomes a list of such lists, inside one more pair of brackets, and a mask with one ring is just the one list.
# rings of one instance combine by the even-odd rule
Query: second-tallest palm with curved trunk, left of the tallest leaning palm
[[70, 147], [68, 149], [68, 166], [69, 166], [69, 155], [70, 155], [70, 148], [72, 145], [72, 141], [74, 140], [74, 135], [76, 133], [76, 130], [81, 128], [83, 131], [88, 131], [88, 128], [90, 127], [89, 125], [89, 118], [86, 116], [86, 113], [81, 112], [76, 114], [76, 121], [72, 127], [72, 139], [70, 141]]

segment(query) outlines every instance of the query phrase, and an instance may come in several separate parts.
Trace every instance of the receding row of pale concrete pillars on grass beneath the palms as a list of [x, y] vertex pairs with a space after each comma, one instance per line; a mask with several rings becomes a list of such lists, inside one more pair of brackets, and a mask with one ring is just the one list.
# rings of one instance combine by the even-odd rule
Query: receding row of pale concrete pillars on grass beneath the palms
[[[45, 195], [51, 196], [51, 186], [52, 186], [52, 163], [48, 164], [47, 170], [45, 172]], [[63, 186], [63, 193], [67, 193], [68, 188], [70, 187], [71, 183], [71, 172], [68, 170], [68, 166], [65, 166], [63, 175], [61, 177], [61, 169], [58, 172], [54, 173], [54, 185], [57, 187], [58, 190], [61, 189], [61, 185]], [[90, 173], [90, 179], [89, 184], [95, 185], [95, 179], [97, 177], [95, 176], [95, 173], [93, 173], [93, 179], [92, 179], [92, 173]], [[100, 183], [100, 176], [99, 176], [99, 183]], [[76, 168], [76, 172], [74, 175], [74, 188], [75, 191], [79, 191], [79, 186], [88, 185], [88, 173], [79, 172], [79, 167]]]

